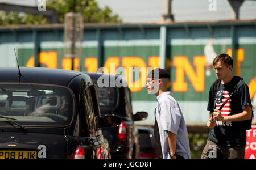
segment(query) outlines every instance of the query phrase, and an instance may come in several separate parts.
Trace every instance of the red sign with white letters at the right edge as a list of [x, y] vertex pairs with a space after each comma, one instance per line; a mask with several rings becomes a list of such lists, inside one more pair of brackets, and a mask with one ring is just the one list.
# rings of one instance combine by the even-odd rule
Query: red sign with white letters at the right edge
[[246, 131], [246, 148], [245, 159], [256, 158], [256, 125], [253, 125], [250, 130]]

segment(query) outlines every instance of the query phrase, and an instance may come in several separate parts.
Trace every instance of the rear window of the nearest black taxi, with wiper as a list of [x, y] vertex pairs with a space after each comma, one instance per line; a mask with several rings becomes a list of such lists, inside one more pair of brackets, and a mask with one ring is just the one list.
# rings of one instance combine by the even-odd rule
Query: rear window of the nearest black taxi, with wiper
[[[38, 84], [0, 84], [0, 116], [21, 125], [65, 126], [73, 116], [68, 88]], [[0, 118], [0, 125], [11, 125]]]

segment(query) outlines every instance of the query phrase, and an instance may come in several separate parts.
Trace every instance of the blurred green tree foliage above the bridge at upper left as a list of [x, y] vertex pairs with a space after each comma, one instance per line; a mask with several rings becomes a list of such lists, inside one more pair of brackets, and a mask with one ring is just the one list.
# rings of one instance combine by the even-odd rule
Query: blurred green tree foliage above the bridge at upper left
[[[57, 10], [58, 23], [64, 22], [64, 15], [73, 11], [73, 0], [47, 0], [46, 11]], [[84, 23], [120, 23], [122, 19], [105, 6], [98, 7], [96, 0], [76, 0], [76, 12], [82, 14]], [[42, 15], [26, 14], [24, 12], [0, 11], [0, 25], [20, 24], [48, 24], [48, 20]]]

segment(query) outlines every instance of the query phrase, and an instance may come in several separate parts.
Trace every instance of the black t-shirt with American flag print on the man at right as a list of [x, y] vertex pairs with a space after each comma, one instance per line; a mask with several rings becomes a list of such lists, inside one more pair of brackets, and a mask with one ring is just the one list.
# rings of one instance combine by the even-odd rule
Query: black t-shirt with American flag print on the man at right
[[[222, 103], [228, 99], [229, 94], [233, 92], [231, 99], [225, 104], [225, 107], [221, 109], [222, 116], [228, 116], [232, 114], [238, 114], [243, 112], [245, 105], [251, 105], [249, 88], [240, 80], [237, 83], [236, 90], [234, 86], [236, 85], [236, 80], [238, 77], [234, 76], [229, 83], [220, 84], [217, 91], [216, 108], [220, 108]], [[213, 86], [210, 87], [209, 101], [207, 110], [213, 112], [214, 104], [214, 91]], [[248, 121], [237, 121], [237, 122], [221, 122], [216, 121], [217, 126], [210, 129], [209, 140], [217, 143], [220, 146], [246, 146], [246, 122]]]

